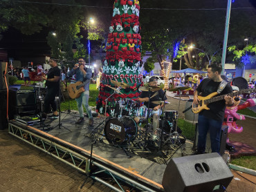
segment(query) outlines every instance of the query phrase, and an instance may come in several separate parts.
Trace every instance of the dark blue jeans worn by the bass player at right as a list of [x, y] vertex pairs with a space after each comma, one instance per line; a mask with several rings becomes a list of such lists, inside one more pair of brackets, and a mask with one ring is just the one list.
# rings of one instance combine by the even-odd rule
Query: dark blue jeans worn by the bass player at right
[[212, 148], [212, 153], [219, 153], [220, 146], [220, 137], [221, 137], [221, 126], [222, 122], [218, 122], [214, 119], [210, 119], [203, 115], [199, 115], [198, 119], [198, 143], [197, 143], [197, 152], [204, 153], [205, 152], [205, 144], [206, 144], [206, 135], [208, 130], [210, 132], [210, 143]]

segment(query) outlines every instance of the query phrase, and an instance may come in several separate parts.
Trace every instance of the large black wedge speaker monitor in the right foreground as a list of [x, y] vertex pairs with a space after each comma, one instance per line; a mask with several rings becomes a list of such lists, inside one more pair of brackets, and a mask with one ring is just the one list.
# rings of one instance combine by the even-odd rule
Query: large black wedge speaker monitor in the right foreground
[[210, 192], [218, 186], [226, 188], [232, 177], [222, 157], [208, 153], [171, 159], [162, 184], [167, 192]]

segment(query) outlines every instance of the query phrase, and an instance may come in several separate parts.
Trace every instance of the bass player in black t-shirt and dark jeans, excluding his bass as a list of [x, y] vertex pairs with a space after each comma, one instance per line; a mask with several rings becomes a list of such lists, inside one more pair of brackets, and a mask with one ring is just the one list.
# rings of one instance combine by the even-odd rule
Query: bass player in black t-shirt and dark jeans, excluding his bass
[[[208, 66], [208, 78], [203, 79], [201, 84], [196, 88], [193, 104], [199, 104], [199, 93], [202, 97], [206, 97], [214, 92], [219, 93], [217, 96], [232, 93], [230, 84], [227, 84], [226, 81], [221, 79], [221, 71], [221, 64], [210, 64]], [[226, 106], [233, 106], [233, 104], [232, 97], [226, 95], [223, 100], [208, 104], [210, 110], [203, 110], [199, 113], [199, 137], [196, 154], [205, 153], [206, 135], [208, 131], [210, 132], [212, 153], [219, 153], [221, 125], [224, 119], [225, 108]]]

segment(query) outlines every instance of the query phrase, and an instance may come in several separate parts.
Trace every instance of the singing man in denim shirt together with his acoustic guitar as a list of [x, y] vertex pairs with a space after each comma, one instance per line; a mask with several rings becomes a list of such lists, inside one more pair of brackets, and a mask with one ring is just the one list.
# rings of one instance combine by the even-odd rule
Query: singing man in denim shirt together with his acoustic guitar
[[[87, 114], [89, 115], [89, 126], [93, 125], [93, 115], [91, 115], [91, 108], [89, 106], [89, 84], [92, 75], [91, 68], [85, 67], [84, 58], [78, 59], [78, 64], [75, 64], [74, 68], [68, 72], [68, 76], [75, 75], [75, 84], [68, 85], [68, 94], [77, 102], [78, 111], [80, 118], [75, 124], [84, 123], [84, 108], [86, 109]], [[72, 98], [72, 96], [71, 96]]]

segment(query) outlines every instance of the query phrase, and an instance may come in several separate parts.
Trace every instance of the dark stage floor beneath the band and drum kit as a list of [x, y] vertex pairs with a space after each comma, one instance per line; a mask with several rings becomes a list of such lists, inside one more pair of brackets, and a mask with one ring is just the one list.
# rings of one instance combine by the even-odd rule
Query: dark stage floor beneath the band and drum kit
[[[84, 148], [86, 151], [91, 151], [91, 143], [96, 138], [96, 142], [93, 144], [93, 154], [146, 177], [160, 188], [162, 188], [163, 173], [169, 160], [173, 157], [192, 154], [192, 142], [187, 140], [183, 144], [174, 145], [172, 144], [173, 137], [170, 138], [172, 142], [166, 142], [162, 150], [159, 150], [158, 146], [146, 145], [144, 148], [145, 130], [143, 128], [137, 128], [136, 134], [132, 135], [132, 141], [129, 144], [127, 142], [109, 144], [109, 141], [112, 140], [107, 140], [104, 134], [98, 134], [100, 129], [102, 133], [104, 133], [104, 128], [106, 129], [105, 117], [94, 117], [93, 126], [89, 126], [89, 119], [86, 117], [84, 124], [75, 124], [78, 118], [79, 115], [76, 111], [63, 112], [60, 117], [60, 126], [59, 119], [46, 119], [44, 127], [41, 126], [42, 124], [31, 126], [58, 137], [60, 140]], [[165, 140], [167, 140], [167, 136]]]

